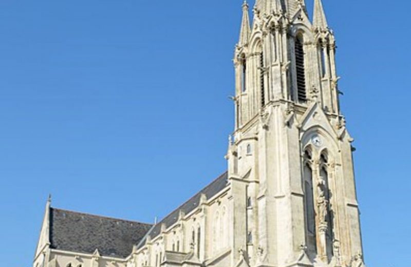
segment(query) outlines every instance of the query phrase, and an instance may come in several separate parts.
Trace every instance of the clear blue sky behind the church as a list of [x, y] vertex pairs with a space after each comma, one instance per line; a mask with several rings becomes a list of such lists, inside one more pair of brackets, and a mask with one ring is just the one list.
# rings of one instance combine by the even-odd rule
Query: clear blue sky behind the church
[[[366, 261], [408, 266], [411, 4], [323, 1]], [[0, 266], [31, 265], [49, 193], [152, 222], [225, 171], [241, 2], [0, 2]]]

